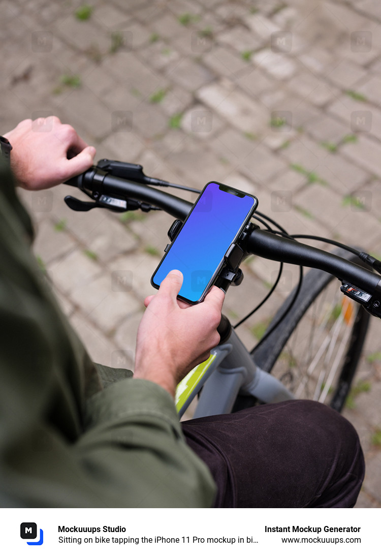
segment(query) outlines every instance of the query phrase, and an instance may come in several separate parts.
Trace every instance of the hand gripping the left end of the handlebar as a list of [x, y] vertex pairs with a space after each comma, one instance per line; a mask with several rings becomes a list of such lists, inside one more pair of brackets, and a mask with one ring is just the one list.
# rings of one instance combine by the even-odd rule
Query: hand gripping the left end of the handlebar
[[23, 120], [4, 136], [11, 142], [11, 168], [20, 186], [42, 190], [83, 173], [96, 149], [56, 116]]

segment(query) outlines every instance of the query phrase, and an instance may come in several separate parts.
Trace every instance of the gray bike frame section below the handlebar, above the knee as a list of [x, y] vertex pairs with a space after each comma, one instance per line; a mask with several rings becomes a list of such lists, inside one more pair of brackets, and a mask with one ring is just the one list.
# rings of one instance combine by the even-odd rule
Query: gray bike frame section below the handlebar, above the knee
[[233, 329], [227, 342], [217, 345], [211, 353], [214, 359], [207, 374], [194, 386], [179, 410], [180, 416], [201, 388], [194, 418], [230, 413], [238, 394], [255, 396], [266, 404], [294, 400], [282, 382], [256, 366]]

